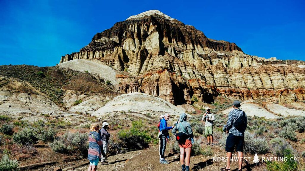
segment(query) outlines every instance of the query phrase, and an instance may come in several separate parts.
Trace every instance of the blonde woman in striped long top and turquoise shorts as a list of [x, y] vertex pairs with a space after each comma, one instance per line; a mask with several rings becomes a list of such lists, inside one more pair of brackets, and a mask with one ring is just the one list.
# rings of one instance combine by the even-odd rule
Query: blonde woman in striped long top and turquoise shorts
[[88, 160], [90, 162], [88, 171], [96, 171], [96, 167], [101, 159], [101, 155], [106, 157], [104, 152], [101, 150], [103, 148], [103, 143], [101, 137], [98, 133], [99, 125], [97, 123], [92, 123], [90, 126], [89, 139], [89, 149], [88, 149]]

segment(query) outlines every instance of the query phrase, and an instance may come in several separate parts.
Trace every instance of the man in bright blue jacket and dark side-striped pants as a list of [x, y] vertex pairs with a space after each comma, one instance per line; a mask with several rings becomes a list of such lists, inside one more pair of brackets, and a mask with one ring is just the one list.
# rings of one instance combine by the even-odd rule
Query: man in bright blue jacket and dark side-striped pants
[[159, 134], [158, 137], [160, 139], [160, 149], [159, 149], [159, 154], [160, 154], [160, 163], [161, 164], [170, 164], [164, 159], [164, 153], [165, 153], [165, 148], [166, 148], [166, 141], [168, 138], [170, 138], [170, 134], [168, 134], [168, 130], [173, 129], [174, 126], [167, 127], [167, 120], [170, 119], [170, 114], [165, 114], [163, 119], [160, 120], [160, 127], [159, 127]]

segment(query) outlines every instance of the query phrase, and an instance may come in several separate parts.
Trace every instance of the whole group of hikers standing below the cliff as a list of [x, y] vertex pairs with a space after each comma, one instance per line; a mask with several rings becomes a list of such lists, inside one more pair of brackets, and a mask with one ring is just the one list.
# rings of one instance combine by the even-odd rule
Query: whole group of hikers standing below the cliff
[[[239, 109], [240, 102], [238, 100], [233, 102], [233, 110], [228, 113], [228, 121], [223, 127], [223, 131], [228, 133], [225, 150], [227, 152], [227, 165], [221, 168], [221, 171], [231, 171], [230, 164], [232, 159], [232, 152], [234, 152], [235, 146], [238, 153], [238, 170], [242, 171], [242, 158], [244, 147], [244, 132], [247, 127], [247, 115], [245, 112]], [[158, 124], [159, 133], [159, 155], [161, 164], [169, 164], [164, 159], [166, 144], [171, 133], [175, 135], [176, 141], [178, 141], [180, 148], [180, 163], [182, 171], [189, 171], [190, 157], [192, 152], [192, 144], [194, 144], [194, 135], [191, 124], [187, 122], [187, 115], [181, 113], [179, 120], [173, 125], [168, 127], [167, 121], [170, 119], [169, 114], [161, 115], [160, 122]], [[210, 108], [206, 108], [206, 113], [203, 114], [202, 120], [205, 121], [204, 134], [207, 137], [208, 142], [206, 145], [214, 145], [213, 143], [213, 121], [215, 120], [214, 114], [210, 112]], [[102, 163], [107, 163], [106, 153], [108, 150], [108, 142], [110, 134], [107, 131], [108, 123], [102, 123], [102, 129], [99, 129], [97, 123], [92, 123], [89, 133], [89, 149], [88, 160], [90, 162], [88, 171], [95, 171], [99, 160]]]

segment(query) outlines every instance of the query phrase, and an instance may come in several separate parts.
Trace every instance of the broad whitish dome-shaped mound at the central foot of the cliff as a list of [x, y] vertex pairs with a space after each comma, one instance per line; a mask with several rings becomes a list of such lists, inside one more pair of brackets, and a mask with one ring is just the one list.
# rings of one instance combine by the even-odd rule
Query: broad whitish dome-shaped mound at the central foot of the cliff
[[179, 116], [185, 112], [173, 104], [151, 95], [140, 92], [122, 94], [106, 103], [105, 106], [93, 112], [92, 116], [105, 116], [107, 114], [123, 113], [142, 113], [151, 115], [160, 115], [169, 113], [170, 115]]

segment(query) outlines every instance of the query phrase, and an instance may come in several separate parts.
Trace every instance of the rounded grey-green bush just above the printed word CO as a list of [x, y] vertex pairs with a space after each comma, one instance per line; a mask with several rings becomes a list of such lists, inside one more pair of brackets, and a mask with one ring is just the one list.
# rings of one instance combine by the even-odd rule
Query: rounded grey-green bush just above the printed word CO
[[285, 150], [290, 150], [296, 154], [296, 151], [293, 147], [284, 139], [284, 138], [273, 138], [270, 140], [271, 152], [276, 157], [284, 157], [286, 155]]

